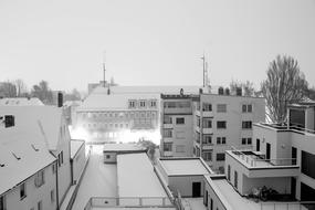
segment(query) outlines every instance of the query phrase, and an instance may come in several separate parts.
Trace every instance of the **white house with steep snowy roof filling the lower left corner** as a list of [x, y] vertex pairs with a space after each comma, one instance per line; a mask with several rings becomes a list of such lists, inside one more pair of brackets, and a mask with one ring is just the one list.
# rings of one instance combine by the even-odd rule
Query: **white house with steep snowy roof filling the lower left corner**
[[[32, 208], [50, 209], [50, 207], [48, 207], [46, 203], [51, 204], [49, 200], [53, 200], [56, 203], [55, 207], [60, 207], [60, 204], [62, 203], [63, 199], [66, 196], [69, 188], [71, 187], [70, 134], [66, 120], [63, 116], [62, 108], [53, 106], [36, 106], [36, 105], [2, 106], [0, 109], [0, 116], [2, 116], [2, 119], [6, 120], [4, 126], [1, 127], [0, 136], [1, 134], [4, 134], [7, 129], [22, 130], [19, 137], [14, 137], [15, 132], [12, 132], [11, 134], [12, 138], [15, 138], [12, 140], [12, 143], [10, 143], [14, 144], [14, 146], [12, 146], [11, 148], [12, 149], [11, 156], [12, 157], [14, 156], [13, 158], [15, 158], [17, 161], [19, 162], [19, 166], [21, 166], [21, 170], [30, 168], [30, 172], [28, 175], [24, 175], [22, 172], [19, 172], [15, 165], [12, 165], [13, 168], [11, 169], [13, 171], [11, 171], [10, 178], [15, 181], [13, 181], [12, 183], [13, 186], [11, 186], [12, 188], [8, 188], [6, 189], [6, 191], [3, 191], [3, 193], [6, 192], [6, 195], [4, 197], [2, 196], [1, 198], [2, 202], [1, 204], [2, 206], [3, 203], [9, 204], [9, 201], [10, 202], [12, 201], [18, 204], [21, 203], [20, 207], [23, 207], [23, 208], [9, 208], [8, 206], [6, 207], [7, 210], [32, 209]], [[21, 145], [27, 144], [27, 139], [29, 136], [32, 136], [32, 140], [36, 140], [36, 144], [36, 144], [33, 144], [32, 141], [25, 145], [25, 147], [21, 147], [20, 144], [18, 144], [19, 141], [22, 141]], [[10, 135], [8, 137], [11, 138]], [[24, 139], [25, 143], [23, 141]], [[8, 144], [7, 137], [3, 138], [1, 137], [0, 143], [3, 146], [6, 146], [6, 144]], [[49, 154], [49, 157], [52, 158], [53, 161], [55, 161], [55, 164], [44, 162], [44, 160], [48, 158], [44, 159], [42, 157], [36, 157], [36, 155], [34, 155], [39, 151], [44, 153], [44, 150], [45, 154]], [[13, 160], [11, 156], [9, 156], [8, 158]], [[24, 159], [28, 159], [28, 161], [24, 161]], [[1, 165], [4, 165], [4, 167], [2, 168], [6, 168], [6, 161]], [[0, 176], [1, 175], [2, 172], [0, 172]], [[44, 182], [48, 185], [48, 187], [39, 188], [40, 189], [39, 192], [36, 188], [31, 186], [34, 175], [40, 177], [36, 178], [40, 180], [40, 182], [42, 181], [42, 179], [44, 179]], [[1, 178], [0, 180], [1, 180], [0, 186], [3, 186], [8, 181], [8, 179], [6, 178]], [[20, 192], [19, 190], [17, 190], [18, 188], [14, 188], [14, 186], [18, 186], [20, 188]], [[52, 188], [52, 186], [54, 186], [54, 188]], [[42, 189], [44, 188], [50, 188], [50, 189], [45, 189], [42, 191]], [[12, 189], [14, 190], [12, 191]], [[22, 197], [24, 197], [23, 193], [30, 196], [28, 196], [25, 200], [22, 199], [23, 200], [22, 201], [17, 196], [17, 193], [21, 193]], [[51, 196], [46, 196], [48, 193], [51, 193]], [[10, 195], [15, 195], [15, 196], [11, 197]], [[40, 200], [42, 200], [41, 203]], [[53, 209], [55, 209], [55, 207]]]

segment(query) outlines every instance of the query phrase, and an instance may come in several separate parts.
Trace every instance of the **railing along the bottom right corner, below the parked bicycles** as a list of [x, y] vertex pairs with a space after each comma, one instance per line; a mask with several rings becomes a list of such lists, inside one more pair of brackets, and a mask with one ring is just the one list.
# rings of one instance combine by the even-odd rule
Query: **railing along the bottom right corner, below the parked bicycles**
[[261, 202], [261, 210], [315, 210], [315, 201]]

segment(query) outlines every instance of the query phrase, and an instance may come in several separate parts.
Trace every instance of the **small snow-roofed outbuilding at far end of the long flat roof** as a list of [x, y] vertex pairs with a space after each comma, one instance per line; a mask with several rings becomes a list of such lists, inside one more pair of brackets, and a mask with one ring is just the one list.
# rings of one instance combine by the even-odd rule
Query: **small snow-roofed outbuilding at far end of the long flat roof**
[[147, 148], [138, 144], [105, 144], [103, 148], [104, 162], [116, 164], [117, 155], [147, 153]]

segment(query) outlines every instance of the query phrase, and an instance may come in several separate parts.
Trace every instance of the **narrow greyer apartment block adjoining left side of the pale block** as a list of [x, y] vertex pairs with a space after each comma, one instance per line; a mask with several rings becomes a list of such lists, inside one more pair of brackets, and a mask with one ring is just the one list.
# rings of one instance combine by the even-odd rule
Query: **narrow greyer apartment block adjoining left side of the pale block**
[[161, 94], [162, 157], [192, 157], [192, 95]]

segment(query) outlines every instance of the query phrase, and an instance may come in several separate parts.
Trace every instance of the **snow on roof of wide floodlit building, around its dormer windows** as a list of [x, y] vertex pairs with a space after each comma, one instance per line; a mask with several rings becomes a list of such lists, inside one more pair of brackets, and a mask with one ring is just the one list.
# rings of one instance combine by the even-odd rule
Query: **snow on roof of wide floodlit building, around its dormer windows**
[[[104, 87], [103, 87], [104, 88]], [[92, 93], [78, 106], [78, 111], [86, 109], [128, 109], [129, 99], [158, 99], [159, 94], [104, 94]]]

